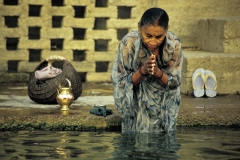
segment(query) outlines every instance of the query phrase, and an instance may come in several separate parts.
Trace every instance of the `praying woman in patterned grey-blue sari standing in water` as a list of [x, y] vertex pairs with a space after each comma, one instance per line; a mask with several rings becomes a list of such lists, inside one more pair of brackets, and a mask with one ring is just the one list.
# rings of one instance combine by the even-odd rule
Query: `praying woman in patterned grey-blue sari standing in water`
[[111, 78], [122, 132], [176, 130], [183, 53], [168, 15], [150, 8], [120, 42]]

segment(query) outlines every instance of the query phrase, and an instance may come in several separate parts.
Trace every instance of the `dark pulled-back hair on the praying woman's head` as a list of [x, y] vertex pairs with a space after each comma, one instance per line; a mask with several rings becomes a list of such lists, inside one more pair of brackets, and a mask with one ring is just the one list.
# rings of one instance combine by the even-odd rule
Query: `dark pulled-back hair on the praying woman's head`
[[168, 21], [168, 14], [165, 10], [161, 8], [150, 8], [143, 13], [139, 24], [140, 27], [145, 25], [158, 25], [164, 29], [168, 29]]

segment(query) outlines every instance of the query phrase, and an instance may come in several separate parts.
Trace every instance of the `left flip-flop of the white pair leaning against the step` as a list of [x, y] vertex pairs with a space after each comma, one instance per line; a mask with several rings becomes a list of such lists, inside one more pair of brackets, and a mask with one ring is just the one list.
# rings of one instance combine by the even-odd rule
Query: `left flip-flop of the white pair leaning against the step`
[[193, 94], [195, 97], [202, 97], [204, 95], [204, 76], [205, 70], [198, 68], [192, 75]]

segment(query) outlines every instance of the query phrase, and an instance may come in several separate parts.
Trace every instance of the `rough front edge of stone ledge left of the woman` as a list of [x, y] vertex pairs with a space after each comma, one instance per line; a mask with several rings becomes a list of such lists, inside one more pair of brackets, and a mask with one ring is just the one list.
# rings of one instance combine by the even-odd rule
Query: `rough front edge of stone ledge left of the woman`
[[34, 116], [0, 116], [0, 131], [6, 130], [112, 130], [120, 128], [118, 116], [84, 117], [81, 115], [34, 115]]

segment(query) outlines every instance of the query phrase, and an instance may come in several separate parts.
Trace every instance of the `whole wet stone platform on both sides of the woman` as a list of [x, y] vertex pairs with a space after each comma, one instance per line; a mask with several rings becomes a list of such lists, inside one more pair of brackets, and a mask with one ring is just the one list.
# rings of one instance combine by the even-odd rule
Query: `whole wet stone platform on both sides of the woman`
[[[90, 114], [94, 105], [113, 111], [106, 117]], [[240, 125], [240, 95], [195, 98], [182, 94], [180, 126]], [[114, 108], [111, 83], [83, 83], [82, 95], [68, 111], [58, 104], [37, 104], [29, 99], [27, 84], [0, 87], [0, 130], [119, 130], [121, 118]]]

